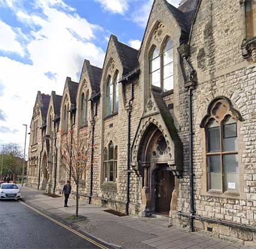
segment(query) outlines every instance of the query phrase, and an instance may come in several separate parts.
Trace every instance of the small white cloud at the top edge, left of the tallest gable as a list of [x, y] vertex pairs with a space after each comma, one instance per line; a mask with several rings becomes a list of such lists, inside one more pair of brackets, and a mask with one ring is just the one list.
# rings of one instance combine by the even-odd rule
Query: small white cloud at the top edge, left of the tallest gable
[[125, 14], [129, 7], [129, 0], [95, 0], [104, 10], [114, 14]]

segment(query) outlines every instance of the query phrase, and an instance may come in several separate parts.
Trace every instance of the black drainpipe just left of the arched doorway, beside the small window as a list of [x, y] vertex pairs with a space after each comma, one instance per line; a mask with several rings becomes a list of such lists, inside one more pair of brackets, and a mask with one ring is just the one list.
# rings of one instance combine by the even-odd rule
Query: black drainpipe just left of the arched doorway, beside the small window
[[127, 187], [126, 187], [126, 202], [125, 202], [125, 215], [129, 215], [129, 203], [130, 203], [130, 149], [131, 149], [131, 109], [133, 103], [133, 83], [131, 83], [131, 98], [127, 107], [128, 111], [128, 137], [127, 137]]

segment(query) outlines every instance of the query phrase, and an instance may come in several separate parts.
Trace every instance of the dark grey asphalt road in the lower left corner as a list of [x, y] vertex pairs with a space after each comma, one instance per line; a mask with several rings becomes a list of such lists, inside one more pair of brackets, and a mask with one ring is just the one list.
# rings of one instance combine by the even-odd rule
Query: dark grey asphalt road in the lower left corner
[[0, 202], [0, 248], [100, 248], [15, 200]]

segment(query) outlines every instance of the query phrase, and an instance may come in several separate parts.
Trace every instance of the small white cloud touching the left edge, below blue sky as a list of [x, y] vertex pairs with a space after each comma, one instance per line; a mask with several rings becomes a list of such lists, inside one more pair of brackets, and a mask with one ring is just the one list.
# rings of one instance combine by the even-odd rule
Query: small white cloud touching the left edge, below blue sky
[[4, 50], [5, 52], [18, 53], [19, 55], [23, 56], [24, 52], [22, 46], [18, 41], [16, 41], [17, 37], [13, 29], [11, 29], [9, 25], [0, 20], [0, 30], [0, 50]]

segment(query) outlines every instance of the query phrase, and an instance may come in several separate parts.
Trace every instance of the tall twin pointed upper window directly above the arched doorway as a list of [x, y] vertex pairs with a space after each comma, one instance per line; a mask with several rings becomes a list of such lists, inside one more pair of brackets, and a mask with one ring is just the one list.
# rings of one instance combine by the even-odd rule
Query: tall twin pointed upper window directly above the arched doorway
[[154, 47], [149, 56], [149, 75], [153, 86], [164, 92], [173, 89], [173, 42], [168, 38], [161, 53]]

